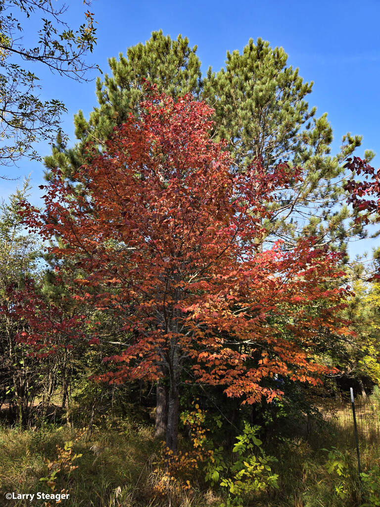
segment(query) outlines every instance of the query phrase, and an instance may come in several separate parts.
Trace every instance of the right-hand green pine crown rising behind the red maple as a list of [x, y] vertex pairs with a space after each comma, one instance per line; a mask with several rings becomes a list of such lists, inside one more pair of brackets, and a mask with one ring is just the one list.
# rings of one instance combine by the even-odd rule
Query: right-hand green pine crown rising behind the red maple
[[341, 163], [361, 137], [348, 133], [340, 152], [330, 156], [327, 114], [317, 118], [316, 107], [306, 101], [312, 86], [287, 66], [282, 48], [272, 49], [259, 38], [256, 44], [251, 39], [242, 54], [227, 52], [225, 69], [215, 74], [209, 68], [202, 98], [215, 107], [215, 138], [226, 139], [237, 167], [261, 159], [267, 171], [281, 160], [303, 168], [303, 183], [290, 185], [271, 205], [273, 216], [264, 223], [267, 239], [294, 244], [300, 236], [314, 235], [320, 244], [344, 249], [361, 228], [347, 223]]

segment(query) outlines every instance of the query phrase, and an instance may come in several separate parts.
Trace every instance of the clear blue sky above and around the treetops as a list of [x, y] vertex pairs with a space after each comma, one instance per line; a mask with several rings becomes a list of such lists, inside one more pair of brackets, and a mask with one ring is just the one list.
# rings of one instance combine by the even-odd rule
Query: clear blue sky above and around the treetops
[[[61, 1], [58, 0], [57, 5]], [[82, 2], [67, 2], [67, 21], [71, 27], [83, 23]], [[72, 4], [72, 5], [70, 5]], [[88, 61], [107, 71], [107, 58], [125, 52], [127, 47], [149, 39], [160, 28], [175, 39], [178, 33], [198, 46], [198, 56], [205, 73], [223, 66], [226, 51], [240, 52], [250, 38], [261, 37], [272, 47], [282, 46], [288, 63], [299, 68], [305, 81], [314, 81], [309, 105], [317, 114], [328, 113], [334, 129], [333, 152], [347, 131], [363, 135], [357, 152], [372, 149], [378, 155], [372, 164], [380, 165], [380, 0], [196, 0], [192, 2], [144, 0], [93, 0], [90, 6], [98, 21], [98, 44]], [[25, 40], [31, 39], [35, 24], [25, 24]], [[63, 130], [74, 139], [72, 117], [81, 108], [87, 117], [96, 105], [95, 83], [77, 83], [52, 75], [35, 65], [42, 80], [42, 98], [59, 98], [68, 110], [62, 117]], [[97, 73], [89, 75], [96, 77]], [[49, 146], [41, 143], [42, 155]], [[38, 185], [43, 183], [42, 164], [24, 162], [18, 169], [6, 169], [9, 176], [32, 172], [33, 195], [38, 203]], [[16, 182], [0, 181], [0, 193], [7, 197]], [[355, 245], [352, 252], [362, 251], [373, 242]], [[378, 244], [378, 240], [377, 240]], [[368, 248], [367, 248], [368, 249]]]

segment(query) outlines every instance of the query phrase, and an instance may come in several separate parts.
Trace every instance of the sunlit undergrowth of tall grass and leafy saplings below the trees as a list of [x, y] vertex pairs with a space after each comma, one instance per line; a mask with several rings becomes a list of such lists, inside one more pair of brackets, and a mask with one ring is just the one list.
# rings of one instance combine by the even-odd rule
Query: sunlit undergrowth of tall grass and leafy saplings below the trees
[[[39, 491], [67, 492], [69, 498], [61, 502], [65, 507], [363, 504], [355, 449], [348, 438], [350, 428], [338, 412], [308, 434], [293, 431], [263, 438], [259, 427], [246, 425], [230, 449], [212, 442], [198, 408], [183, 420], [190, 429], [180, 437], [175, 459], [154, 439], [151, 426], [122, 419], [103, 417], [94, 426], [91, 441], [86, 441], [85, 428], [43, 425], [33, 431], [0, 427], [0, 505], [56, 504], [55, 500], [5, 497], [9, 492]], [[376, 503], [380, 448], [373, 439], [366, 443], [362, 438], [360, 453], [364, 504], [380, 505]]]

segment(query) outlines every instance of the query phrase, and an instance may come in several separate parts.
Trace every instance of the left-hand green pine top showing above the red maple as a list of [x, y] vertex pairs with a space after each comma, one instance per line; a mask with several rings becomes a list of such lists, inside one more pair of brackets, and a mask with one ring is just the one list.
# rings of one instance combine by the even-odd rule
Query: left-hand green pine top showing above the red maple
[[172, 40], [160, 30], [153, 32], [145, 44], [128, 48], [126, 56], [120, 53], [119, 60], [109, 58], [111, 76], [106, 74], [104, 81], [96, 80], [99, 105], [94, 107], [88, 121], [82, 111], [74, 115], [78, 142], [73, 148], [66, 148], [62, 137], [57, 137], [52, 155], [45, 158], [46, 177], [50, 177], [49, 169], [54, 167], [69, 176], [83, 164], [87, 142], [102, 147], [113, 127], [122, 125], [130, 113], [138, 116], [145, 81], [173, 98], [187, 92], [199, 96], [201, 62], [196, 51], [197, 46], [190, 48], [186, 37], [179, 34], [177, 40]]

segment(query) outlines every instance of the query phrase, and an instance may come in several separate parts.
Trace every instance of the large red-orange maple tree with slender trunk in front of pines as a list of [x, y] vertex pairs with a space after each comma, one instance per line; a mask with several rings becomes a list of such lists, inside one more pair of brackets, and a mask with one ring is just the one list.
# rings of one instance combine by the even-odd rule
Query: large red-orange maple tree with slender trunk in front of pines
[[262, 387], [265, 377], [315, 383], [327, 370], [314, 348], [323, 334], [347, 332], [337, 317], [346, 289], [336, 284], [337, 255], [312, 240], [262, 251], [263, 203], [299, 171], [237, 171], [210, 139], [211, 108], [190, 95], [154, 95], [141, 111], [106, 152], [90, 148], [78, 185], [57, 169], [46, 211], [24, 203], [23, 214], [43, 238], [62, 239], [64, 248], [48, 250], [75, 261], [75, 297], [123, 316], [128, 346], [105, 358], [118, 368], [103, 380], [169, 379], [166, 441], [175, 451], [185, 364], [186, 381], [221, 384], [243, 403], [281, 394]]

